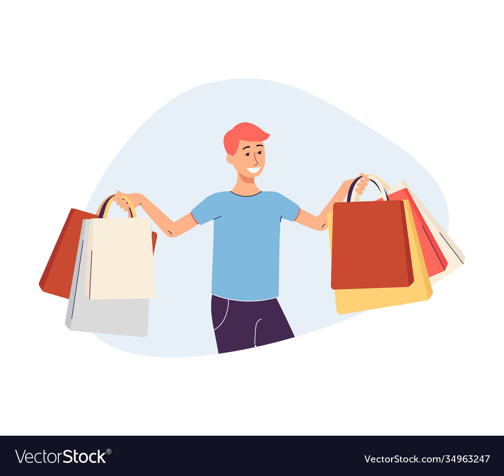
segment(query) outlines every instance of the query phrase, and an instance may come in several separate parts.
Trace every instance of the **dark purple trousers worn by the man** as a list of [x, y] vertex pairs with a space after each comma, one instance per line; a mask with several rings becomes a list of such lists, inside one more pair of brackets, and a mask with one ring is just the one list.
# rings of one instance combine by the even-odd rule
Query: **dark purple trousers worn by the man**
[[233, 301], [212, 294], [212, 322], [219, 354], [294, 337], [276, 299]]

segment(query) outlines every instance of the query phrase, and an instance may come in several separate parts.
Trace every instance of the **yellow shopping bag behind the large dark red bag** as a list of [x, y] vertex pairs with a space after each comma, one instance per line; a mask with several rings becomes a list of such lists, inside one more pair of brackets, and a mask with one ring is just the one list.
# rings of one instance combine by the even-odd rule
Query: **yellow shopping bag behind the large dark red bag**
[[[370, 288], [370, 289], [338, 289], [334, 292], [336, 297], [336, 310], [338, 314], [349, 312], [367, 311], [380, 307], [396, 306], [411, 302], [427, 301], [432, 296], [427, 267], [423, 259], [420, 241], [413, 221], [413, 214], [409, 200], [404, 200], [406, 213], [406, 227], [411, 251], [411, 264], [413, 267], [413, 283], [405, 288]], [[333, 242], [333, 213], [327, 214], [329, 227], [329, 241]], [[348, 230], [342, 230], [348, 233]], [[362, 250], [363, 253], [366, 250]], [[372, 259], [372, 256], [369, 257]], [[365, 273], [365, 269], [362, 271]]]

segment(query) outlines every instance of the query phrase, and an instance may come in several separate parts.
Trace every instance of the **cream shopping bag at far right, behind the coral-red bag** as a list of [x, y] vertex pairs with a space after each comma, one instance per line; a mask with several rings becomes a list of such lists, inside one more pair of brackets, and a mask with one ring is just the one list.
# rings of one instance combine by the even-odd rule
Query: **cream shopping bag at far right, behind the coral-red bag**
[[[424, 221], [426, 229], [428, 229], [431, 232], [431, 235], [429, 235], [429, 239], [432, 239], [432, 247], [434, 248], [434, 244], [437, 245], [440, 256], [443, 257], [444, 261], [444, 269], [439, 269], [438, 273], [431, 274], [429, 272], [429, 277], [430, 277], [430, 283], [434, 284], [437, 283], [439, 280], [442, 280], [446, 276], [448, 276], [450, 273], [452, 273], [455, 269], [458, 267], [462, 266], [465, 261], [465, 256], [460, 251], [460, 249], [457, 247], [457, 245], [453, 242], [453, 240], [450, 238], [448, 233], [443, 229], [439, 223], [436, 222], [434, 217], [428, 212], [428, 210], [425, 208], [423, 203], [418, 199], [418, 197], [413, 193], [411, 188], [406, 184], [406, 182], [400, 182], [396, 186], [392, 187], [390, 189], [390, 194], [389, 196], [392, 196], [396, 193], [407, 193], [409, 196], [411, 196], [411, 207], [413, 209], [413, 203], [416, 207], [416, 210], [419, 212], [419, 217]], [[418, 228], [417, 228], [418, 229]], [[418, 232], [419, 236], [421, 235], [420, 231]], [[428, 245], [425, 243], [425, 248], [428, 249]], [[436, 248], [437, 250], [437, 248]], [[429, 258], [426, 256], [426, 252], [424, 249], [424, 246], [422, 246], [422, 252], [424, 253], [425, 261], [427, 264], [427, 269], [429, 269], [429, 264], [428, 260]], [[436, 251], [437, 252], [437, 251]], [[430, 263], [431, 263], [431, 269], [433, 268], [432, 261], [435, 263], [436, 259], [432, 252], [430, 253]]]

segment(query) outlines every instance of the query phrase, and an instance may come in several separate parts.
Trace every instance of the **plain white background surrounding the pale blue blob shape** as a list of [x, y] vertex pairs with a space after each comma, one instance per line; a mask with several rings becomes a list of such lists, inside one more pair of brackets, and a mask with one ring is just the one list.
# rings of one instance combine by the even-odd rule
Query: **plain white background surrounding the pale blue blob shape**
[[[2, 434], [502, 434], [502, 20], [499, 2], [3, 2]], [[466, 264], [427, 302], [238, 353], [70, 332], [38, 288], [68, 211], [157, 109], [232, 78], [411, 154]]]

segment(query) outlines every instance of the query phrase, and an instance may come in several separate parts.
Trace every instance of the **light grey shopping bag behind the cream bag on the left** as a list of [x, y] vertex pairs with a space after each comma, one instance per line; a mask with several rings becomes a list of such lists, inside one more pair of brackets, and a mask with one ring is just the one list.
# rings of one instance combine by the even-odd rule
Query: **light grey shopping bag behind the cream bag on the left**
[[89, 225], [90, 220], [83, 220], [65, 323], [71, 330], [144, 337], [148, 326], [148, 299], [92, 300], [84, 293]]

